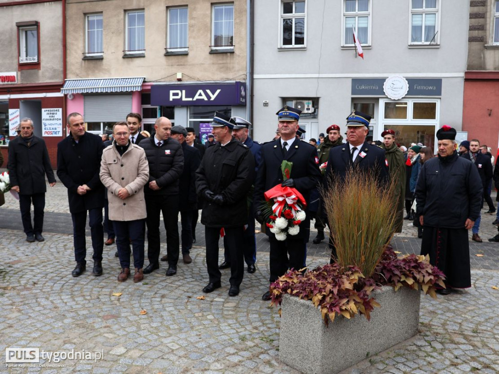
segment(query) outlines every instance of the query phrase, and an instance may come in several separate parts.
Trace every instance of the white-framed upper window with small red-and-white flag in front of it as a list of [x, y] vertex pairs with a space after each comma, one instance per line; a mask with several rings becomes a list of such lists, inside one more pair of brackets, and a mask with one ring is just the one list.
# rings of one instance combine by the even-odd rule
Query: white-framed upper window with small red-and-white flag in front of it
[[371, 44], [371, 0], [343, 0], [343, 46], [355, 45], [354, 30], [362, 45]]

